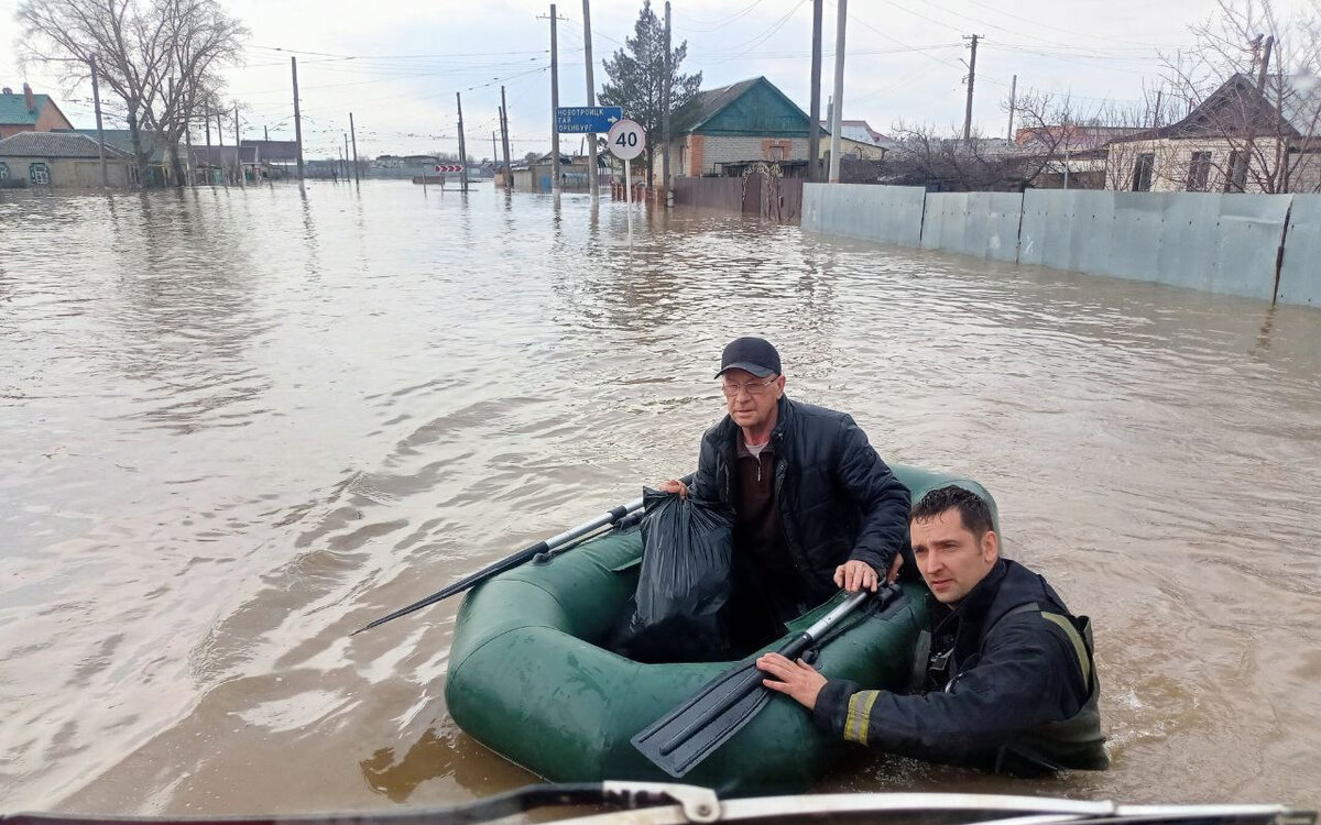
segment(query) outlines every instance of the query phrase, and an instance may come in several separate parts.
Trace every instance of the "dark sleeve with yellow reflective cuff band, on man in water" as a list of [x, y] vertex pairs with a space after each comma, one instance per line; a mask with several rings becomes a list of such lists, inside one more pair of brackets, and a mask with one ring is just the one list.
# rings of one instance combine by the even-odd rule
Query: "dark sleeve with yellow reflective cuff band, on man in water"
[[951, 690], [923, 696], [859, 690], [843, 709], [832, 700], [830, 730], [922, 759], [975, 762], [1032, 727], [1077, 713], [1070, 681], [1074, 653], [1040, 616], [1009, 622]]

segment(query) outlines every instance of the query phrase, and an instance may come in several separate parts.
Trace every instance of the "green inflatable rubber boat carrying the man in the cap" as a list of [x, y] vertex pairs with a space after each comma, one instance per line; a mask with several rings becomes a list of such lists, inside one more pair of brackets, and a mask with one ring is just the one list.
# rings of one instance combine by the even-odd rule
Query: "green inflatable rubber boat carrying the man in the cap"
[[[893, 466], [919, 499], [950, 483], [995, 502], [967, 479]], [[588, 540], [542, 564], [478, 586], [460, 609], [445, 701], [474, 739], [551, 781], [672, 781], [630, 742], [734, 663], [642, 664], [604, 647], [633, 595], [642, 557], [637, 528]], [[925, 620], [921, 585], [880, 612], [855, 612], [819, 651], [832, 678], [898, 688]], [[843, 597], [808, 611], [774, 649]], [[744, 660], [746, 661], [746, 660]], [[786, 793], [820, 780], [849, 746], [777, 696], [752, 722], [684, 776], [732, 795]]]

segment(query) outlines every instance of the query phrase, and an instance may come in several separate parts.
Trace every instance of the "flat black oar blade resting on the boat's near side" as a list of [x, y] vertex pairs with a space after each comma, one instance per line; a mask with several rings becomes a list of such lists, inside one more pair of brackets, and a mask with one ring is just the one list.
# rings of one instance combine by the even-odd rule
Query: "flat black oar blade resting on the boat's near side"
[[631, 742], [662, 771], [682, 777], [724, 744], [770, 701], [756, 660], [721, 673], [691, 700], [660, 717]]

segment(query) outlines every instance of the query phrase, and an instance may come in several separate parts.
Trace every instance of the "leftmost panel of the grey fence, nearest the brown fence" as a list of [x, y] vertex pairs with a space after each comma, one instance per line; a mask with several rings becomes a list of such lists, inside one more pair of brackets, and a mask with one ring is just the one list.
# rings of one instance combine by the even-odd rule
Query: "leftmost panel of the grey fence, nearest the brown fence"
[[806, 183], [802, 226], [812, 232], [917, 247], [925, 197], [921, 186]]

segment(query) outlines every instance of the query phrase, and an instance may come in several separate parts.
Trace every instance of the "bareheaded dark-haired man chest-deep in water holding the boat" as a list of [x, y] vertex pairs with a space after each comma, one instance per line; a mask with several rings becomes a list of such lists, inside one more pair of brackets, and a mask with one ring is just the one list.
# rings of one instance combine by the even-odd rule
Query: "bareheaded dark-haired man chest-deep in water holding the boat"
[[822, 730], [933, 762], [1040, 775], [1106, 770], [1091, 627], [1028, 568], [1000, 557], [985, 500], [941, 487], [913, 508], [913, 554], [930, 589], [908, 694], [827, 681], [766, 653], [764, 684]]

